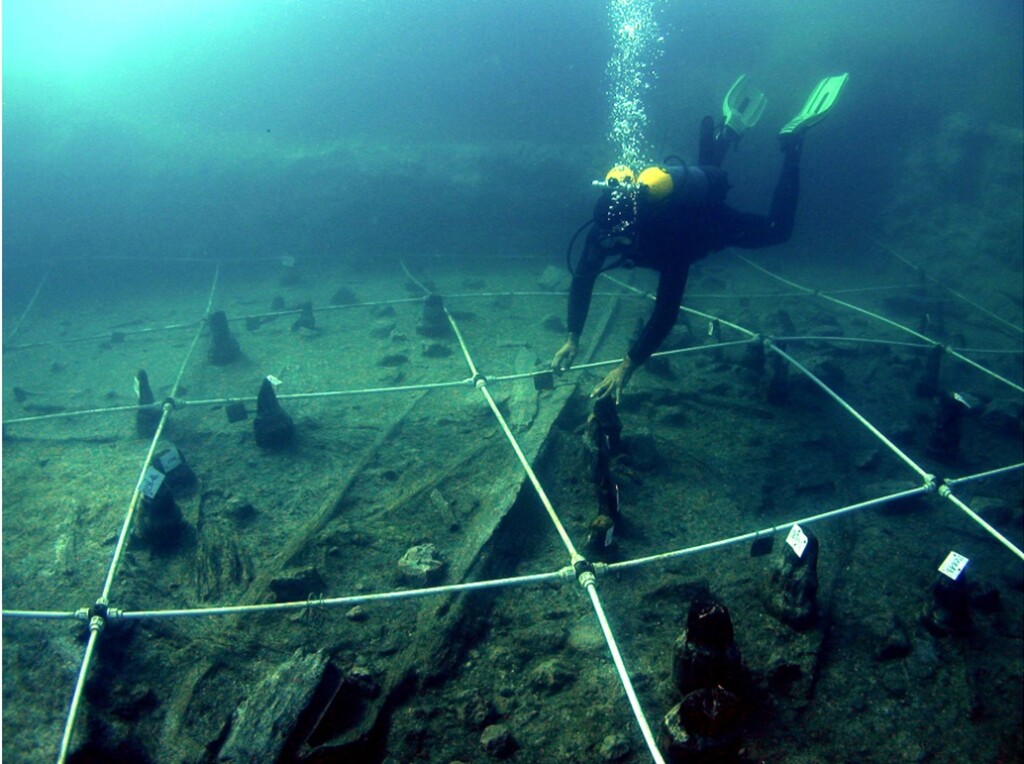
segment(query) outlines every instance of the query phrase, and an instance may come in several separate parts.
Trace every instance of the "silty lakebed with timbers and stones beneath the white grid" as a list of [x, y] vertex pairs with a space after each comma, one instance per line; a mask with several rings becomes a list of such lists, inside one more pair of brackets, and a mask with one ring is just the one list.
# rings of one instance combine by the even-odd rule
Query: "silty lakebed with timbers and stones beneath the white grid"
[[[872, 288], [843, 299], [956, 347], [1020, 350], [1019, 334], [883, 251], [865, 248], [842, 267], [801, 254], [754, 260], [813, 289]], [[493, 379], [545, 368], [563, 339], [567, 277], [531, 258], [410, 256], [407, 265], [445, 296], [488, 390], [585, 549], [596, 513], [587, 393], [603, 370], [559, 377], [553, 390]], [[653, 289], [650, 274], [615, 275]], [[4, 351], [5, 608], [72, 611], [94, 602], [148, 447], [131, 412], [11, 420], [51, 407], [130, 405], [139, 369], [158, 399], [166, 396], [213, 283], [214, 266], [195, 262], [69, 262], [49, 271]], [[584, 350], [604, 360], [621, 356], [650, 303], [611, 282], [599, 290]], [[316, 330], [292, 331], [294, 314], [247, 327], [243, 316], [269, 312], [275, 297], [287, 308], [312, 300]], [[325, 309], [333, 297], [355, 304]], [[893, 327], [728, 253], [694, 268], [687, 303], [757, 333], [816, 338], [791, 340], [786, 351], [928, 472], [954, 477], [1022, 460], [1019, 393], [951, 356], [941, 387], [973, 408], [956, 456], [929, 456], [936, 404], [915, 392], [927, 352], [843, 341], [913, 342]], [[186, 528], [166, 549], [133, 539], [111, 604], [138, 611], [309, 596], [314, 604], [111, 623], [74, 758], [266, 760], [254, 753], [259, 724], [246, 725], [254, 707], [278, 697], [283, 711], [264, 722], [262, 732], [273, 731], [259, 745], [283, 749], [283, 761], [648, 760], [590, 601], [572, 581], [315, 606], [321, 596], [413, 588], [397, 562], [427, 543], [445, 563], [439, 583], [568, 564], [473, 385], [286, 399], [296, 439], [276, 452], [257, 448], [251, 417], [232, 423], [222, 402], [189, 404], [255, 397], [267, 374], [283, 380], [282, 395], [468, 379], [454, 336], [422, 334], [422, 291], [398, 258], [225, 263], [213, 307], [233, 320], [244, 357], [212, 366], [204, 335], [184, 369], [165, 440], [198, 477], [176, 497]], [[174, 324], [185, 326], [135, 332]], [[750, 677], [743, 761], [1019, 761], [1020, 560], [934, 493], [861, 510], [808, 526], [821, 545], [820, 618], [802, 633], [779, 623], [765, 609], [764, 589], [788, 523], [922, 480], [795, 371], [786, 399], [768, 402], [769, 373], [751, 364], [746, 347], [716, 349], [708, 330], [703, 319], [681, 317], [668, 346], [694, 350], [652, 363], [624, 395], [623, 451], [612, 461], [623, 519], [604, 561], [780, 532], [767, 556], [751, 556], [743, 543], [598, 577], [655, 734], [679, 701], [674, 641], [690, 602], [713, 596], [731, 612]], [[71, 341], [81, 337], [91, 339]], [[742, 336], [725, 329], [721, 339]], [[50, 344], [14, 347], [40, 342]], [[1020, 384], [1019, 354], [968, 354]], [[1022, 493], [1019, 471], [956, 489], [1017, 545]], [[972, 625], [935, 636], [921, 616], [950, 550], [971, 559]], [[3, 754], [11, 761], [55, 758], [85, 631], [80, 622], [4, 620]], [[303, 661], [313, 668], [297, 669]]]

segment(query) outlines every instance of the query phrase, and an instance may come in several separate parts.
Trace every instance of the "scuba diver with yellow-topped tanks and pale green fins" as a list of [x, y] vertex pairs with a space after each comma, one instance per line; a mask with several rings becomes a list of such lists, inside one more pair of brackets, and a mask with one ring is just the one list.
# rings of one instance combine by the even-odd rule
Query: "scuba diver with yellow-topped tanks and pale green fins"
[[[729, 145], [755, 125], [765, 107], [764, 93], [739, 77], [722, 105], [724, 124], [700, 124], [697, 166], [669, 158], [639, 175], [625, 166], [608, 171], [594, 209], [580, 263], [569, 270], [568, 337], [555, 353], [552, 370], [569, 369], [579, 350], [597, 277], [613, 267], [640, 266], [658, 271], [654, 309], [622, 364], [612, 369], [591, 397], [618, 401], [630, 377], [668, 337], [679, 315], [690, 264], [726, 247], [770, 247], [788, 241], [797, 211], [800, 155], [807, 130], [831, 109], [848, 75], [818, 83], [801, 112], [779, 131], [782, 171], [767, 216], [740, 212], [725, 204], [729, 182], [720, 169]], [[587, 227], [584, 226], [584, 227]], [[584, 228], [577, 231], [579, 236]], [[572, 244], [569, 243], [569, 253]]]

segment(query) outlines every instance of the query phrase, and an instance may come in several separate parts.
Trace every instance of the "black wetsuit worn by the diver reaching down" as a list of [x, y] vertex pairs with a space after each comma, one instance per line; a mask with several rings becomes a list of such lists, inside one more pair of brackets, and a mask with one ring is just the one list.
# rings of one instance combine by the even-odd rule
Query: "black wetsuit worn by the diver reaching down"
[[[654, 203], [640, 201], [632, 231], [634, 241], [625, 251], [601, 244], [608, 236], [606, 226], [601, 224], [601, 220], [607, 218], [609, 201], [606, 194], [597, 204], [596, 224], [587, 237], [583, 257], [572, 278], [566, 322], [569, 332], [578, 337], [583, 333], [594, 282], [605, 266], [605, 260], [609, 256], [629, 259], [637, 266], [659, 273], [654, 310], [629, 351], [634, 365], [647, 360], [676, 324], [691, 263], [726, 247], [754, 249], [788, 241], [800, 190], [800, 150], [798, 143], [784, 152], [782, 172], [767, 217], [740, 212], [725, 204], [728, 186], [724, 175], [719, 192], [696, 204], [678, 198], [682, 194], [677, 182], [668, 199]], [[667, 169], [675, 177], [673, 168]], [[709, 175], [721, 173], [715, 167], [700, 169]]]

